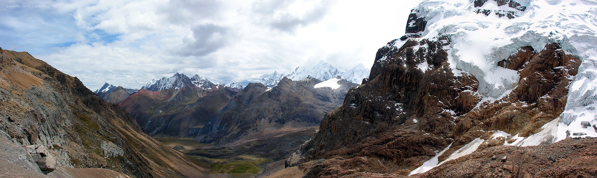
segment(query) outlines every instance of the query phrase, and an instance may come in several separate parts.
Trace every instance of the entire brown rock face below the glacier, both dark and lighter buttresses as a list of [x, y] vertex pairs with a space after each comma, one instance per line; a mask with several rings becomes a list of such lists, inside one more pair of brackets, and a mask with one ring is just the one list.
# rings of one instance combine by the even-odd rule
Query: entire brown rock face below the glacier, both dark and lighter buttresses
[[[439, 161], [478, 137], [488, 139], [491, 133], [486, 131], [523, 137], [536, 133], [563, 111], [569, 78], [580, 65], [558, 44], [538, 53], [523, 47], [496, 63], [517, 70], [518, 85], [501, 99], [479, 103], [478, 82], [466, 73], [452, 73], [443, 50], [448, 40], [439, 41], [410, 39], [401, 48], [392, 41], [380, 48], [371, 81], [350, 90], [344, 104], [325, 116], [319, 132], [301, 149], [304, 159], [295, 165], [321, 159], [306, 170], [306, 177], [333, 177], [329, 172], [399, 175], [450, 143]], [[490, 140], [479, 150], [506, 140]], [[356, 161], [371, 158], [382, 166], [369, 167], [377, 160]]]

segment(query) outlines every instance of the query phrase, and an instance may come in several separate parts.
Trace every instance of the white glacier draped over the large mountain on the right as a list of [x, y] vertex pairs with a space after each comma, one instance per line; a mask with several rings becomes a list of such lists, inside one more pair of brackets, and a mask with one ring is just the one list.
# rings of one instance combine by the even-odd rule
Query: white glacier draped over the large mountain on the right
[[[477, 1], [485, 3], [475, 7]], [[478, 93], [484, 97], [481, 102], [497, 100], [517, 86], [518, 73], [498, 67], [498, 62], [521, 47], [541, 51], [547, 44], [560, 44], [565, 53], [581, 60], [578, 74], [571, 78], [564, 112], [544, 124], [540, 132], [528, 137], [517, 134], [515, 142], [504, 145], [533, 146], [567, 137], [597, 137], [597, 1], [512, 1], [525, 8], [500, 6], [492, 0], [424, 0], [412, 11], [426, 20], [424, 30], [405, 36], [420, 36], [410, 38], [417, 41], [439, 41], [447, 36], [450, 46], [445, 49], [453, 73], [466, 72], [478, 79]], [[405, 41], [397, 39], [395, 46], [401, 47]], [[423, 71], [426, 67], [419, 66]], [[467, 146], [474, 147], [478, 141]], [[459, 151], [450, 158], [463, 156]], [[411, 174], [423, 173], [438, 164], [441, 162], [430, 160]]]

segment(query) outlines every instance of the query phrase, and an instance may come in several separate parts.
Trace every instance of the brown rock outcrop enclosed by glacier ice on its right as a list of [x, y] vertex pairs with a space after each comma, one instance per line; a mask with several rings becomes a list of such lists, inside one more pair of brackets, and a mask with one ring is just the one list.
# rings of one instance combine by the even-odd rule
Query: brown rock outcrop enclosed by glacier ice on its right
[[527, 137], [564, 111], [569, 78], [576, 75], [580, 60], [565, 54], [558, 44], [547, 45], [538, 54], [532, 49], [521, 48], [502, 61], [506, 68], [519, 71], [518, 86], [503, 99], [481, 103], [479, 108], [461, 116], [455, 137], [469, 132], [470, 136], [462, 137], [467, 138], [462, 142], [470, 142], [472, 137], [478, 137], [473, 133], [476, 129], [471, 129], [475, 126]]

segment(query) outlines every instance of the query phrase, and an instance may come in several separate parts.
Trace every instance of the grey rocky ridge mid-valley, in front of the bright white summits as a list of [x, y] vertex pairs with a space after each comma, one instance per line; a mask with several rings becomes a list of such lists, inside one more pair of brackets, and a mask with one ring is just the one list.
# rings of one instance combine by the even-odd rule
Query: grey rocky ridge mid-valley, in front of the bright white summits
[[311, 77], [300, 81], [283, 78], [271, 90], [260, 83], [250, 84], [210, 118], [201, 131], [205, 135], [197, 139], [216, 145], [239, 145], [275, 136], [288, 125], [318, 125], [326, 112], [340, 105], [346, 91], [356, 86], [341, 79], [337, 89], [315, 88], [319, 83]]

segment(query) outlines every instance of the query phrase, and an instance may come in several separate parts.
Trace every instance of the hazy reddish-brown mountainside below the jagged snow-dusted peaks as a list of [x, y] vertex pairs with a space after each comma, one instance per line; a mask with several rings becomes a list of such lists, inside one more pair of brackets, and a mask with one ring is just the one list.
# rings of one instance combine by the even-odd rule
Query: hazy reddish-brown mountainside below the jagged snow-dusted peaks
[[210, 116], [220, 111], [238, 90], [229, 87], [214, 87], [210, 90], [196, 88], [161, 91], [141, 89], [119, 105], [150, 136], [195, 137]]

